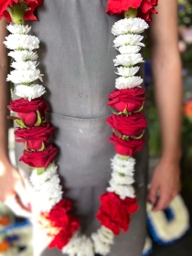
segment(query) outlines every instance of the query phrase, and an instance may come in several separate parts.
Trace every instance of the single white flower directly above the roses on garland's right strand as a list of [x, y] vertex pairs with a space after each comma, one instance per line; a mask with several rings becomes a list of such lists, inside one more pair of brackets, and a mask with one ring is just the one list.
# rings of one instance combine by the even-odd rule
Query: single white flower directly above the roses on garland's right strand
[[140, 87], [142, 84], [143, 79], [141, 77], [130, 77], [130, 78], [123, 78], [120, 77], [115, 81], [115, 87], [119, 90], [121, 89], [131, 89], [134, 87]]

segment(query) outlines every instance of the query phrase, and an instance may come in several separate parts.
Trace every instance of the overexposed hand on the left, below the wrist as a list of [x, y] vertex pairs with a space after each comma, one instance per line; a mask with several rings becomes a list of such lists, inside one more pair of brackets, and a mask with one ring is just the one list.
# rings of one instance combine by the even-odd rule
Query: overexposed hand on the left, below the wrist
[[8, 162], [0, 162], [0, 201], [11, 208], [16, 215], [30, 218], [31, 213], [26, 208], [19, 195], [25, 195], [25, 187], [16, 169]]

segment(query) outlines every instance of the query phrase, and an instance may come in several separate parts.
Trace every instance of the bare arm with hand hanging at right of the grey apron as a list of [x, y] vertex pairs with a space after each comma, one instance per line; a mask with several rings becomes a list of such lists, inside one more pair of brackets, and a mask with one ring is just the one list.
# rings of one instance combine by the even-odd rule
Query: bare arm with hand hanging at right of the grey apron
[[[155, 81], [162, 157], [152, 177], [148, 200], [154, 210], [166, 208], [180, 190], [182, 76], [177, 38], [177, 1], [159, 0], [150, 27], [150, 51]], [[157, 199], [158, 191], [160, 197]]]

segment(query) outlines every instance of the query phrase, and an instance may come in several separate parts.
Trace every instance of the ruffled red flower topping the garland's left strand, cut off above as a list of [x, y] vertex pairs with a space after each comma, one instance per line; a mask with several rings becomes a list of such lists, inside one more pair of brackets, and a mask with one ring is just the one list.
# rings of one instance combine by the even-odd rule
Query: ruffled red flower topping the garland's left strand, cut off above
[[28, 4], [27, 7], [29, 8], [29, 10], [25, 12], [24, 20], [37, 20], [37, 17], [34, 16], [33, 12], [38, 6], [43, 5], [43, 0], [1, 0], [0, 19], [4, 16], [8, 22], [11, 22], [11, 16], [7, 12], [7, 7], [12, 7], [13, 4], [17, 4], [19, 2], [25, 2]]

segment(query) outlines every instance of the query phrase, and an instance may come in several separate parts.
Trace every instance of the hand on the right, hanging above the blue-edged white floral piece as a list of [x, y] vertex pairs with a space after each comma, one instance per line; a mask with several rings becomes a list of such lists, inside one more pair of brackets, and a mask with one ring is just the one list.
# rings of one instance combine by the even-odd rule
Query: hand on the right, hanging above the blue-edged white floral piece
[[154, 206], [153, 211], [163, 210], [180, 191], [179, 162], [161, 159], [155, 167], [148, 201]]

